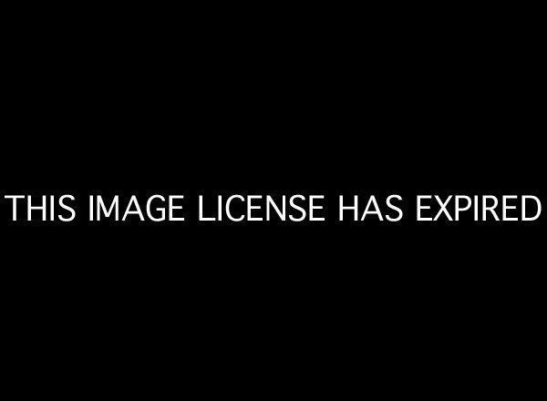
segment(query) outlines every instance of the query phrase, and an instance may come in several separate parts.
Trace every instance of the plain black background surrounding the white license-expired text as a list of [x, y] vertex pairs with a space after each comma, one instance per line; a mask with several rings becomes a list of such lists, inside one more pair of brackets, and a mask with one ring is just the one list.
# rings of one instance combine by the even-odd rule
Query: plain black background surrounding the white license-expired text
[[[325, 193], [329, 221], [4, 220], [10, 375], [521, 391], [542, 355], [544, 217], [419, 224], [413, 199], [544, 201], [540, 26], [225, 11], [27, 10], [3, 50], [2, 194]], [[401, 223], [335, 222], [338, 194], [390, 193], [408, 201]]]

